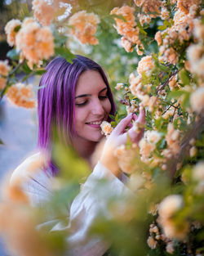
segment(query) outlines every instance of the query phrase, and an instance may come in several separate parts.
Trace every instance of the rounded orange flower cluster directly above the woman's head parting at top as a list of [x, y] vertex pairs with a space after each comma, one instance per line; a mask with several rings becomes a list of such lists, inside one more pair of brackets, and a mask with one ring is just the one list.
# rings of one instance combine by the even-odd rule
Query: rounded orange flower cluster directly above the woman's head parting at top
[[78, 38], [81, 43], [98, 44], [99, 40], [95, 38], [97, 24], [100, 22], [98, 16], [86, 11], [78, 11], [69, 18], [69, 25], [73, 28], [71, 33]]

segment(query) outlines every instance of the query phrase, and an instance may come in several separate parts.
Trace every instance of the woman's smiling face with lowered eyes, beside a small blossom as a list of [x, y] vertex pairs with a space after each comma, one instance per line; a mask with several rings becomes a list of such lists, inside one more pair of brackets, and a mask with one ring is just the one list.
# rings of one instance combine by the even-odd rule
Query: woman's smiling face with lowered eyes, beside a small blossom
[[107, 86], [100, 73], [95, 70], [84, 71], [78, 79], [75, 93], [77, 137], [86, 141], [100, 141], [100, 124], [108, 119], [110, 110]]

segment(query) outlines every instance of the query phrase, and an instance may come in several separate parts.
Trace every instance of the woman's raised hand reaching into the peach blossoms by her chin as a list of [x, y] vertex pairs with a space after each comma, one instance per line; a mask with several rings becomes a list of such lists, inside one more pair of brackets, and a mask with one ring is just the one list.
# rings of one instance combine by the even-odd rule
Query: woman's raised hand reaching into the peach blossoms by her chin
[[[118, 159], [114, 156], [114, 150], [121, 145], [125, 145], [127, 137], [130, 137], [132, 143], [139, 144], [141, 137], [143, 136], [144, 128], [140, 132], [136, 132], [134, 126], [132, 126], [131, 121], [136, 123], [145, 123], [145, 111], [140, 108], [140, 115], [137, 117], [135, 114], [127, 115], [126, 118], [122, 119], [120, 123], [111, 132], [109, 138], [104, 144], [104, 150], [100, 157], [101, 164], [104, 164], [106, 168], [116, 175], [120, 176], [120, 170], [118, 167]], [[126, 131], [126, 128], [131, 127]]]

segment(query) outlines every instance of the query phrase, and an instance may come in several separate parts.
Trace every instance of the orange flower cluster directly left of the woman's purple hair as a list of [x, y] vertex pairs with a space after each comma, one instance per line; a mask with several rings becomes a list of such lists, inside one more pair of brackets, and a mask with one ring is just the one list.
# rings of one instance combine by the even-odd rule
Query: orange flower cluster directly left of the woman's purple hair
[[36, 101], [33, 99], [32, 85], [24, 86], [24, 83], [16, 83], [7, 90], [7, 98], [16, 106], [34, 108]]

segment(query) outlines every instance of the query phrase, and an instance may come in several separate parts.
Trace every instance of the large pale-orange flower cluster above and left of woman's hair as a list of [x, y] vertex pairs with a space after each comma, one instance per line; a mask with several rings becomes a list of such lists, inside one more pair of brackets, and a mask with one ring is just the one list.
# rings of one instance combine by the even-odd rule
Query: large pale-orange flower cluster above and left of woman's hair
[[40, 65], [54, 54], [54, 38], [51, 29], [41, 27], [32, 18], [24, 19], [21, 29], [16, 34], [16, 48], [28, 60], [28, 65]]

